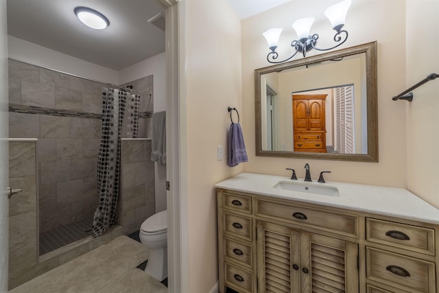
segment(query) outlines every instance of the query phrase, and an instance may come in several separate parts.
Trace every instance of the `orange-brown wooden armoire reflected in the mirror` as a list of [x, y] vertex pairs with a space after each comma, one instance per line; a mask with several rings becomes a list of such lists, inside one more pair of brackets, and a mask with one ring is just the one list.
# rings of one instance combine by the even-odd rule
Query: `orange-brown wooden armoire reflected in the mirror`
[[293, 95], [294, 152], [327, 152], [326, 98], [327, 95]]

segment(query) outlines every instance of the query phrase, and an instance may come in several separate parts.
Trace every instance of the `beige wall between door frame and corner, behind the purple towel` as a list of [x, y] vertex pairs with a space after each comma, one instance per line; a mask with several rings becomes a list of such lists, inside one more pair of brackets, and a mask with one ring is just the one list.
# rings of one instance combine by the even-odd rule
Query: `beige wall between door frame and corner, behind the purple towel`
[[[241, 35], [239, 19], [226, 1], [186, 1], [186, 19], [186, 101], [180, 105], [187, 106], [189, 287], [190, 292], [206, 293], [217, 282], [213, 185], [241, 173], [246, 164], [226, 165], [227, 107], [236, 107], [241, 121], [246, 116], [241, 105]], [[217, 161], [217, 145], [224, 147], [223, 161]]]

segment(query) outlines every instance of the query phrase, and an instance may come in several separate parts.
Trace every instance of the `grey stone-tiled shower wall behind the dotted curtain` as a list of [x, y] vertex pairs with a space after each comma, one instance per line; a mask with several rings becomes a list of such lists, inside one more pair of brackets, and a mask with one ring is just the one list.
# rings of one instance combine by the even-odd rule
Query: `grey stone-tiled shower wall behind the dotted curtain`
[[[144, 79], [152, 84], [152, 76]], [[40, 233], [93, 218], [102, 86], [9, 60], [10, 137], [38, 139]], [[152, 101], [142, 98], [140, 111], [152, 112]], [[139, 136], [144, 125], [139, 123]]]

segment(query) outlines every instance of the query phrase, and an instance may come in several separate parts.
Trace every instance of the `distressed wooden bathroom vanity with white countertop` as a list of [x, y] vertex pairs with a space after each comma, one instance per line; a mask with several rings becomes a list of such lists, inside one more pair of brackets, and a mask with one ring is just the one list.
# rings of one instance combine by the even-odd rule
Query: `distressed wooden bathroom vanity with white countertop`
[[[358, 207], [361, 200], [355, 203], [345, 192], [362, 185], [340, 185], [339, 198], [268, 194], [271, 182], [283, 177], [268, 176], [271, 187], [263, 188], [266, 182], [254, 176], [265, 178], [239, 174], [216, 185], [219, 292], [439, 292], [434, 207], [410, 198], [412, 215], [396, 216], [395, 207], [386, 213], [382, 206], [392, 204], [383, 200], [386, 192], [392, 193], [389, 200], [410, 197], [405, 189], [387, 187], [366, 190], [382, 188], [377, 199], [370, 196], [381, 204], [377, 211], [373, 203]], [[422, 214], [425, 219], [418, 220]]]

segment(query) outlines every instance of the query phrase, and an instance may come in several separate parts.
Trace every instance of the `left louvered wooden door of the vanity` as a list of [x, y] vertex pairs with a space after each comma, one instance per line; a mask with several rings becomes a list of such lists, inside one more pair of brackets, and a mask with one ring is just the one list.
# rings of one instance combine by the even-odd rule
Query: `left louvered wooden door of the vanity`
[[300, 232], [257, 222], [258, 292], [300, 292]]

